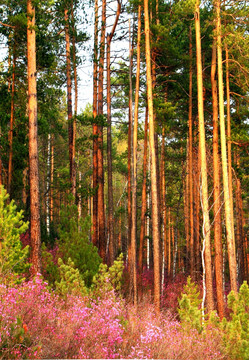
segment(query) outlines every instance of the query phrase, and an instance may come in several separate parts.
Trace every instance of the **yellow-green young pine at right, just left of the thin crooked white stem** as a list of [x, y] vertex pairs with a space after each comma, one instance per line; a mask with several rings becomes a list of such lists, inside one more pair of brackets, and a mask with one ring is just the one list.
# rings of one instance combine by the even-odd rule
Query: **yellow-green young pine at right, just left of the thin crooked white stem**
[[203, 330], [201, 299], [197, 285], [191, 281], [190, 276], [184, 286], [184, 292], [179, 299], [178, 313], [182, 327], [186, 330], [196, 329], [199, 333]]

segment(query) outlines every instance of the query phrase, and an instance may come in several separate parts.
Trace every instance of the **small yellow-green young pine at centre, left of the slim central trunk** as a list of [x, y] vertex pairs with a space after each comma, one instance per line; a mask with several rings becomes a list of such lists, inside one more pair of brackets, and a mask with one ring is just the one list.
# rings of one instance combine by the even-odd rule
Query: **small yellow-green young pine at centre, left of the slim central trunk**
[[113, 289], [119, 292], [122, 286], [123, 271], [124, 261], [122, 253], [109, 269], [106, 264], [100, 264], [99, 272], [93, 278], [92, 291], [95, 296], [100, 296], [101, 293], [109, 292]]

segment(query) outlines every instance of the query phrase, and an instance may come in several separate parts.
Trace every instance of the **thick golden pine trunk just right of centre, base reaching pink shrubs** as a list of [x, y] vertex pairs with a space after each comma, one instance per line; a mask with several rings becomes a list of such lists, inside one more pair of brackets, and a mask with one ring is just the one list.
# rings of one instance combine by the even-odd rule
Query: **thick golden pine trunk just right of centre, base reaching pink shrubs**
[[152, 236], [153, 236], [153, 259], [154, 259], [154, 303], [156, 311], [160, 311], [160, 260], [159, 242], [160, 233], [158, 226], [158, 188], [156, 171], [155, 132], [153, 114], [153, 95], [151, 79], [151, 53], [150, 53], [150, 24], [148, 0], [144, 0], [144, 25], [145, 25], [145, 56], [146, 56], [146, 78], [147, 98], [149, 112], [149, 144], [151, 154], [151, 199], [152, 199]]

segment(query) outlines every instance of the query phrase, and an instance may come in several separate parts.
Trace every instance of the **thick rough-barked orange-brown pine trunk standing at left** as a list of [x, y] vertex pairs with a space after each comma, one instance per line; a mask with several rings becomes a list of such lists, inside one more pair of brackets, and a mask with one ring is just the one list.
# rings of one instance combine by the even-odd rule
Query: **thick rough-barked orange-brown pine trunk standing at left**
[[27, 21], [31, 274], [35, 275], [41, 272], [41, 229], [38, 172], [35, 8], [31, 0], [27, 0]]

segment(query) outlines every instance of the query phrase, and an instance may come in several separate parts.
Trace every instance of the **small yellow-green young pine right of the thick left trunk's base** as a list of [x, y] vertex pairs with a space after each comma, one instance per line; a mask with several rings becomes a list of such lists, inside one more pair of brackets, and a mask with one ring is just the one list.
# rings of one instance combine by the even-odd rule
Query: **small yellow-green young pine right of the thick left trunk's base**
[[60, 281], [55, 282], [56, 291], [66, 297], [67, 295], [85, 296], [87, 288], [81, 278], [80, 272], [75, 268], [73, 261], [68, 258], [64, 264], [61, 258], [58, 259]]

